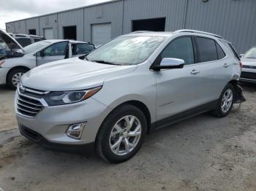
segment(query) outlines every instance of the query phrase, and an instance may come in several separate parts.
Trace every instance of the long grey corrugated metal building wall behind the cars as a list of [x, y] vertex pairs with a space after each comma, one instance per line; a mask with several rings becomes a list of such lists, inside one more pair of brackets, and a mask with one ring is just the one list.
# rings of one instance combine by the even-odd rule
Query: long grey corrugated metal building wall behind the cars
[[[112, 37], [132, 31], [132, 20], [165, 17], [165, 30], [191, 28], [219, 34], [233, 42], [239, 53], [256, 45], [256, 0], [116, 0], [81, 9], [7, 23], [7, 31], [26, 33], [53, 28], [63, 38], [63, 26], [77, 26], [79, 40], [91, 42], [91, 25], [111, 23]], [[32, 28], [34, 27], [34, 28]]]

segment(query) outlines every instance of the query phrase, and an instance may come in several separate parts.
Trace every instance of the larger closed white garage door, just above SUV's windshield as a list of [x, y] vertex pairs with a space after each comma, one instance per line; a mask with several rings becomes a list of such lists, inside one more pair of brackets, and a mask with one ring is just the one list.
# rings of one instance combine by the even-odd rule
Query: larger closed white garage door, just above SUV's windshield
[[92, 25], [92, 43], [95, 47], [105, 44], [111, 39], [111, 23]]

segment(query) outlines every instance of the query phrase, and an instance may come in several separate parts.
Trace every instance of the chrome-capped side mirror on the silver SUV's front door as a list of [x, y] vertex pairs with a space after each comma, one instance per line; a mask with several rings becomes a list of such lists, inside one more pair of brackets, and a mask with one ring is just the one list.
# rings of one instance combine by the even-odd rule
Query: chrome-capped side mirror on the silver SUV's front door
[[159, 66], [154, 66], [154, 70], [161, 69], [182, 69], [185, 61], [178, 58], [163, 58]]

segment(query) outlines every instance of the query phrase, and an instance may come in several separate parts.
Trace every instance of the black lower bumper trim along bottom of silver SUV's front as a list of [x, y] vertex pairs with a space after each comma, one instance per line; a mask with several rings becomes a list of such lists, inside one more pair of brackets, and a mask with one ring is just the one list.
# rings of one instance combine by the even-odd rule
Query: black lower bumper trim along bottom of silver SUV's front
[[39, 144], [41, 147], [44, 147], [45, 149], [56, 150], [61, 152], [80, 153], [86, 156], [89, 156], [92, 152], [94, 152], [94, 142], [89, 144], [78, 145], [58, 144], [48, 141], [39, 133], [29, 128], [26, 128], [23, 125], [18, 125], [18, 127], [20, 129], [20, 134], [30, 139], [31, 141], [34, 141], [35, 143]]

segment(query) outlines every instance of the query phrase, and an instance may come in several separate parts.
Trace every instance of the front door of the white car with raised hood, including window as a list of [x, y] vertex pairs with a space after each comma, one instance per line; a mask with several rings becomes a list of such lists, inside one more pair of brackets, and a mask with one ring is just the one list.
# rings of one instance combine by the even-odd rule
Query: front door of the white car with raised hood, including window
[[59, 61], [68, 58], [69, 42], [57, 42], [46, 47], [44, 50], [37, 52], [37, 66], [44, 63]]

